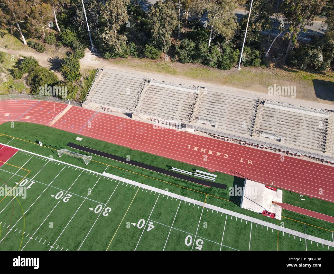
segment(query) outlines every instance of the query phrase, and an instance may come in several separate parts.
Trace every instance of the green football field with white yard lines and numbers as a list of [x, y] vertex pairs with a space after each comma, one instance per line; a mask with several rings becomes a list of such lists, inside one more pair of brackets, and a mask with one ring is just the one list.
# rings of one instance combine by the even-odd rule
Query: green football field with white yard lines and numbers
[[[0, 196], [0, 250], [333, 250], [203, 207], [216, 203], [205, 193], [189, 202], [188, 192], [176, 197], [163, 184], [154, 191], [150, 178], [124, 169], [96, 161], [86, 166], [8, 136], [0, 143], [19, 149], [0, 167], [1, 186], [22, 189], [16, 197]], [[333, 233], [324, 233], [331, 241]]]

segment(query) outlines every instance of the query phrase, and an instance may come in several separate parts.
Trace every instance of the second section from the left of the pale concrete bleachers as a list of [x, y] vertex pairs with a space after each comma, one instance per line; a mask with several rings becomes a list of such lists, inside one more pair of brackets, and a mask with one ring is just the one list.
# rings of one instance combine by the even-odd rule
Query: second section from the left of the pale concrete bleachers
[[[161, 86], [159, 86], [161, 85]], [[146, 84], [136, 111], [151, 113], [153, 118], [189, 121], [195, 104], [196, 89], [163, 81]]]

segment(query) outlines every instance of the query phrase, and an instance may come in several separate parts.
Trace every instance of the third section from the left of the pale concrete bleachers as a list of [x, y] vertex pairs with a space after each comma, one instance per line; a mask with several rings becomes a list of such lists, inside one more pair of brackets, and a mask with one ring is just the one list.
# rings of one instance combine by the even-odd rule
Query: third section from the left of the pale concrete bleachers
[[216, 121], [216, 130], [249, 136], [257, 104], [255, 98], [208, 91], [197, 118]]

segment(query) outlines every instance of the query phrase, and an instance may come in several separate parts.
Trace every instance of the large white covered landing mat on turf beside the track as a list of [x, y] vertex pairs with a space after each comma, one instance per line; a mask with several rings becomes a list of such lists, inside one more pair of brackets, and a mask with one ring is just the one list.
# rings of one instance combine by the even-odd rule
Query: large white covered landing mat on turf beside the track
[[282, 202], [282, 190], [274, 191], [266, 185], [246, 179], [240, 206], [242, 208], [262, 213], [266, 210], [275, 213], [275, 219], [282, 218], [282, 207], [273, 202]]

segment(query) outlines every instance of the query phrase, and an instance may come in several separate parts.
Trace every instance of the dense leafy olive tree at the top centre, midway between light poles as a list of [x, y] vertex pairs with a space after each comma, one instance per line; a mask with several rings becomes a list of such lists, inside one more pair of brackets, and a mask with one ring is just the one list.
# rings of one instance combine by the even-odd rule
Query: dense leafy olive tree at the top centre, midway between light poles
[[172, 31], [178, 24], [177, 13], [170, 1], [157, 1], [148, 13], [152, 44], [167, 53], [172, 45]]

